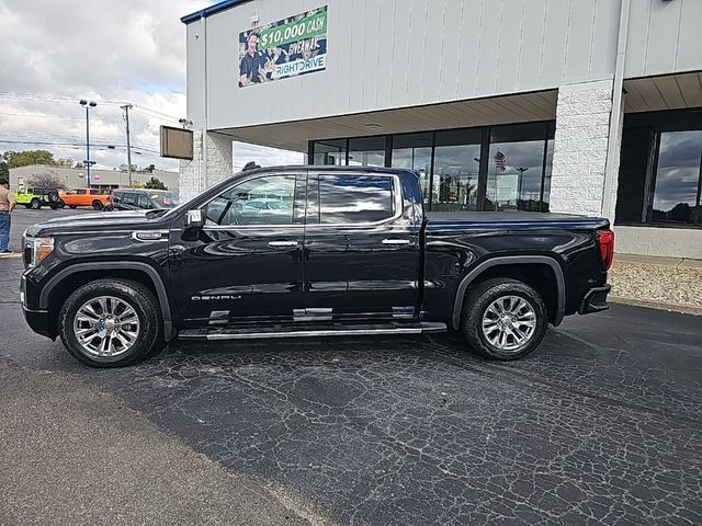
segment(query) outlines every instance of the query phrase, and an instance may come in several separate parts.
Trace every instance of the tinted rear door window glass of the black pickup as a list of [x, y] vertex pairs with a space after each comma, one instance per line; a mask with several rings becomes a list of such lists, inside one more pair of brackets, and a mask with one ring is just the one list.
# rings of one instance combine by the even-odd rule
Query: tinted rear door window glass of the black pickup
[[377, 222], [395, 215], [390, 175], [320, 174], [318, 220], [324, 225]]

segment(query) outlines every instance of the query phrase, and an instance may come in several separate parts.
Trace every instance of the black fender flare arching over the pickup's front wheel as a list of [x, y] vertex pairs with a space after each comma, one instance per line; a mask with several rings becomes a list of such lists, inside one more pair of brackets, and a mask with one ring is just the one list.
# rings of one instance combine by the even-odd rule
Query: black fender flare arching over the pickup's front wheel
[[163, 339], [169, 342], [173, 339], [173, 318], [171, 315], [171, 307], [168, 298], [168, 291], [166, 290], [166, 285], [163, 284], [163, 279], [156, 268], [154, 268], [148, 263], [144, 263], [140, 261], [99, 261], [94, 263], [77, 263], [75, 265], [68, 266], [66, 268], [57, 272], [52, 278], [46, 283], [42, 293], [39, 294], [39, 308], [48, 309], [49, 297], [52, 290], [54, 290], [58, 284], [64, 281], [66, 277], [78, 274], [79, 272], [86, 271], [139, 271], [144, 272], [151, 283], [154, 284], [154, 288], [156, 290], [158, 304], [161, 308], [161, 317], [163, 318]]

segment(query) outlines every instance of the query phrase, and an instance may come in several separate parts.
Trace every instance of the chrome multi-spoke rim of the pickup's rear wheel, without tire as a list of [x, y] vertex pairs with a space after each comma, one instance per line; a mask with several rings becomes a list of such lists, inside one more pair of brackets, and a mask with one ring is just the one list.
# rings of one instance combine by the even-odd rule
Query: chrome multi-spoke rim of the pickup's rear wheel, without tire
[[536, 312], [524, 298], [501, 296], [483, 315], [483, 335], [500, 351], [519, 352], [536, 329]]

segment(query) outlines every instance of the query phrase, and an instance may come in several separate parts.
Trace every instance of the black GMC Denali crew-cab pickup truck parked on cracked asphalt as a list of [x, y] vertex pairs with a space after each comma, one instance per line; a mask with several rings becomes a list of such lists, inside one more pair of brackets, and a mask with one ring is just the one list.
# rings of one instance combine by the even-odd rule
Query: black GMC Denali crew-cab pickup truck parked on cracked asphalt
[[240, 172], [170, 210], [55, 219], [24, 235], [37, 333], [98, 367], [166, 342], [462, 331], [496, 359], [607, 309], [605, 219], [426, 214], [416, 172]]

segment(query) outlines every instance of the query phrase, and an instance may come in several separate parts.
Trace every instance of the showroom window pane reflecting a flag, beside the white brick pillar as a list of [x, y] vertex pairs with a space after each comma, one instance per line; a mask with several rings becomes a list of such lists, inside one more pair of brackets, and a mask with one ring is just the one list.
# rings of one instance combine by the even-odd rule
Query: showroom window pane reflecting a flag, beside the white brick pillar
[[545, 134], [543, 124], [491, 129], [486, 210], [542, 211]]

